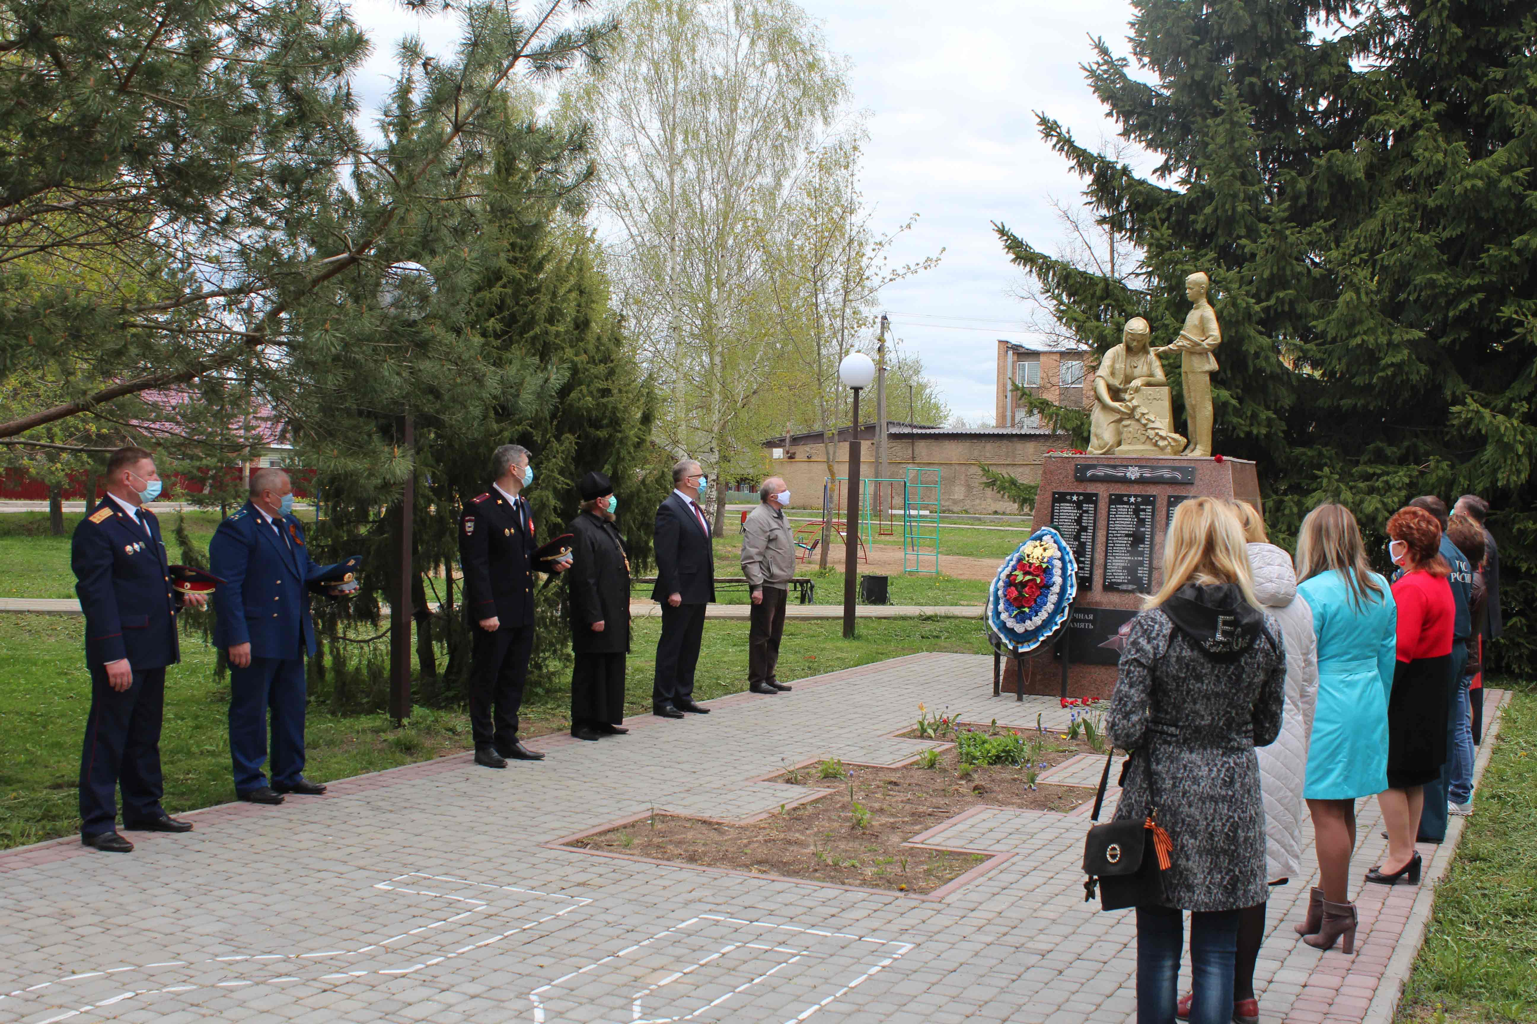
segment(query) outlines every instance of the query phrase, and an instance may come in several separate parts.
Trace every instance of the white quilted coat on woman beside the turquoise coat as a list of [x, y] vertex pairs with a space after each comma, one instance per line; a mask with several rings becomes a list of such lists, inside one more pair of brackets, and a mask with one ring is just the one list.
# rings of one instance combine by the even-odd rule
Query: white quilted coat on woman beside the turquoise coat
[[1286, 645], [1286, 711], [1280, 735], [1254, 749], [1265, 797], [1265, 870], [1273, 883], [1302, 869], [1302, 780], [1308, 768], [1308, 737], [1319, 699], [1319, 640], [1313, 609], [1297, 596], [1291, 556], [1273, 543], [1248, 545], [1254, 593], [1280, 623]]

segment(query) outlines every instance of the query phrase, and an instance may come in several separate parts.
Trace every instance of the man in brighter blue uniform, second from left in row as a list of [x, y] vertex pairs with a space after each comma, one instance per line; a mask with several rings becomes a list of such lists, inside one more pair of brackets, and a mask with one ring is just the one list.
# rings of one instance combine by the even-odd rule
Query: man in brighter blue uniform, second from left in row
[[[214, 646], [229, 659], [229, 758], [235, 795], [249, 803], [326, 792], [304, 778], [304, 659], [315, 654], [309, 594], [343, 563], [315, 565], [292, 510], [287, 473], [257, 470], [249, 500], [218, 524], [207, 545], [209, 571], [221, 580], [214, 590]], [[271, 785], [261, 774], [269, 708]]]

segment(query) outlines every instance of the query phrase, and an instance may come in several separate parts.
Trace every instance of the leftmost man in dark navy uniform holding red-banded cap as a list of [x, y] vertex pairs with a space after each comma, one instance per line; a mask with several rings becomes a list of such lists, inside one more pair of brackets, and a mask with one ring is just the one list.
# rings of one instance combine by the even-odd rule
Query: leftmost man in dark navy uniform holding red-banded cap
[[191, 821], [160, 806], [160, 722], [166, 666], [181, 660], [177, 613], [183, 602], [201, 606], [204, 599], [171, 585], [160, 524], [144, 507], [158, 494], [154, 456], [118, 448], [106, 462], [106, 497], [75, 527], [69, 550], [91, 669], [91, 715], [80, 751], [80, 841], [109, 854], [134, 849], [117, 832], [118, 786], [124, 829], [192, 831]]

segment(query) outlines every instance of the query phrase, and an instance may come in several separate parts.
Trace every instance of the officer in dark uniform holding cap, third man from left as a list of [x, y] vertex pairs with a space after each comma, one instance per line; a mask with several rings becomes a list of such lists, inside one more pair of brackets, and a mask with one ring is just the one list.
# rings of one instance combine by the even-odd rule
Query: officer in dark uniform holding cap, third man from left
[[[533, 482], [529, 450], [501, 445], [492, 453], [492, 490], [464, 502], [460, 563], [470, 646], [470, 729], [475, 763], [506, 768], [507, 758], [544, 760], [518, 742], [518, 708], [533, 651], [533, 513], [523, 488]], [[564, 571], [570, 560], [555, 562]]]

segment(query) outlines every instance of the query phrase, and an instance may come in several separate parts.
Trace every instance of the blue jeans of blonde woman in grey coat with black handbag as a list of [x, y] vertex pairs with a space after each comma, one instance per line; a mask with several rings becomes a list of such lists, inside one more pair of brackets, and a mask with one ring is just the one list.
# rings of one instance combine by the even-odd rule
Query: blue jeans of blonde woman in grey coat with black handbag
[[[1230, 1024], [1240, 910], [1190, 915], [1190, 1024]], [[1185, 920], [1168, 907], [1137, 907], [1137, 1024], [1174, 1024]]]

